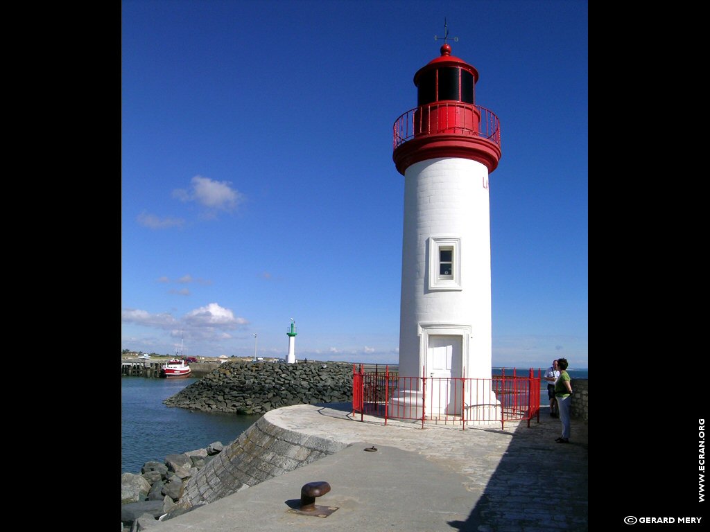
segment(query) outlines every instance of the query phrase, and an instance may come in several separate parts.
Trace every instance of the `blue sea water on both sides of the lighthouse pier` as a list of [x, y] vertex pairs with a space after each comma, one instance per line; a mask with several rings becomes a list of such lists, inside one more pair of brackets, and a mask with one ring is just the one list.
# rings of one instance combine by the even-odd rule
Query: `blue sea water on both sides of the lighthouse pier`
[[[540, 369], [544, 377], [547, 367]], [[537, 377], [538, 368], [534, 368]], [[493, 375], [501, 375], [494, 367]], [[513, 368], [505, 368], [506, 377]], [[567, 370], [572, 379], [588, 378], [588, 370]], [[515, 375], [529, 375], [529, 368], [518, 367]], [[168, 407], [163, 404], [183, 388], [197, 382], [187, 379], [155, 379], [151, 377], [121, 377], [121, 473], [138, 473], [148, 460], [163, 462], [165, 456], [206, 448], [221, 441], [228, 445], [239, 438], [261, 416], [209, 413]], [[540, 381], [540, 406], [547, 406], [547, 382]]]

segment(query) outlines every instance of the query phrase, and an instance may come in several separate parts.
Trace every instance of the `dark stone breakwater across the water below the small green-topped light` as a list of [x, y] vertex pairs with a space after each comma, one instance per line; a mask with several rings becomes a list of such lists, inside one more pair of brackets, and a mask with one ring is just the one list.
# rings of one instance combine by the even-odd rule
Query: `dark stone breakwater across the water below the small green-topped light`
[[281, 406], [352, 401], [347, 362], [224, 362], [163, 403], [234, 414], [265, 414]]

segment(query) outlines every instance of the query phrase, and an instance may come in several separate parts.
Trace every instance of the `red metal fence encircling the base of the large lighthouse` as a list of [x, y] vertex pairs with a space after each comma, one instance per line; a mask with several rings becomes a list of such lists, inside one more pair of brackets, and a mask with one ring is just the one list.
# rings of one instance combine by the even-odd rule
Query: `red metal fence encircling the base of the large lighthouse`
[[[426, 368], [422, 375], [426, 375]], [[529, 374], [501, 375], [490, 379], [466, 377], [400, 377], [396, 372], [366, 372], [353, 365], [353, 414], [388, 419], [461, 423], [540, 421], [540, 370]]]

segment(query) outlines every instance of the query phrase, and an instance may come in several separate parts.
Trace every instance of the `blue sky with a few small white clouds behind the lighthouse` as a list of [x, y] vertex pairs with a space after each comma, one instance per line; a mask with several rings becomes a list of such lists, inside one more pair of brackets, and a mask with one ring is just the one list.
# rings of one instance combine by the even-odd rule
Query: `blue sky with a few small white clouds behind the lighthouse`
[[589, 367], [581, 0], [124, 0], [121, 349], [396, 363], [392, 126], [439, 55], [501, 121], [493, 365]]

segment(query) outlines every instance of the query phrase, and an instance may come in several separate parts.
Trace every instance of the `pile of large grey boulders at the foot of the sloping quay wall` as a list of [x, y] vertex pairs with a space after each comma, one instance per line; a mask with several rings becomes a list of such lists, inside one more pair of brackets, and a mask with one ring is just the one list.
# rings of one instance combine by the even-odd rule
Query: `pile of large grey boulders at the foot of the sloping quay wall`
[[124, 532], [148, 528], [168, 514], [185, 492], [190, 478], [222, 452], [222, 442], [204, 449], [168, 455], [164, 462], [143, 464], [140, 473], [121, 475], [121, 526]]

